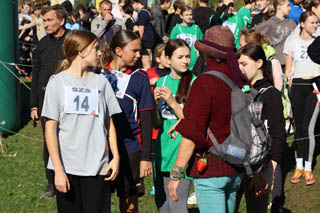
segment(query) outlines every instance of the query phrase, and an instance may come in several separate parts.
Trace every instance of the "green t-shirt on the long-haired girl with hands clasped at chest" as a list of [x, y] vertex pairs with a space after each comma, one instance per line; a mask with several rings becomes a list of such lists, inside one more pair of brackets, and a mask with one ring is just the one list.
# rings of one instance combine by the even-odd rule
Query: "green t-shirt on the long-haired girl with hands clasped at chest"
[[[196, 76], [193, 75], [190, 85], [192, 85], [195, 79]], [[172, 95], [175, 96], [178, 91], [179, 82], [180, 79], [174, 79], [169, 74], [161, 77], [157, 81], [156, 87], [168, 87]], [[182, 107], [183, 105], [181, 104]], [[163, 99], [159, 101], [159, 112], [163, 119], [163, 125], [156, 140], [155, 165], [162, 172], [170, 172], [171, 167], [176, 162], [182, 135], [178, 134], [177, 139], [170, 138], [168, 131], [178, 121], [178, 118]]]

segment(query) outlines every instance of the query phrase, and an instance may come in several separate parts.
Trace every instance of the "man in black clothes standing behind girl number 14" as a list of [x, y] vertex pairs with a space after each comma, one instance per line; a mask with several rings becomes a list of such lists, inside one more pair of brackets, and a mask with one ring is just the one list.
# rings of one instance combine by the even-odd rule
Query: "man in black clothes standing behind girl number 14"
[[[60, 62], [65, 58], [62, 45], [67, 31], [64, 28], [67, 12], [61, 5], [46, 7], [42, 10], [44, 26], [47, 35], [43, 37], [35, 50], [32, 70], [32, 89], [31, 89], [31, 119], [40, 119], [45, 89], [49, 78], [56, 71]], [[48, 198], [55, 195], [54, 173], [47, 169], [49, 152], [45, 142], [44, 119], [40, 119], [44, 137], [43, 158], [46, 169], [48, 187], [40, 198]]]

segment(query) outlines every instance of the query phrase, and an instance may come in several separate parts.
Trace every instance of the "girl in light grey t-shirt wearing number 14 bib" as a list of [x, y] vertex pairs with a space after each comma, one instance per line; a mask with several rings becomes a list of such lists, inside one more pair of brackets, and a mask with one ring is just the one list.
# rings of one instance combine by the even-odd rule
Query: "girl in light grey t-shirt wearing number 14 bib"
[[112, 115], [121, 109], [109, 82], [89, 71], [97, 52], [94, 34], [71, 31], [64, 41], [66, 59], [46, 88], [42, 116], [58, 212], [110, 212], [109, 181], [120, 161]]

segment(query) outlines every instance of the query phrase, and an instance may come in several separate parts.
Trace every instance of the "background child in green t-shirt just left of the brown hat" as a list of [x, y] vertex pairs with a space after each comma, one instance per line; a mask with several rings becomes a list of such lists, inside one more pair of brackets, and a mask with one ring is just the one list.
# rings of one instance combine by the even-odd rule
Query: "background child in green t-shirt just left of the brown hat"
[[176, 25], [172, 29], [170, 39], [180, 38], [187, 42], [191, 48], [191, 62], [189, 69], [192, 70], [198, 58], [198, 53], [194, 47], [194, 43], [196, 40], [201, 40], [203, 38], [203, 33], [201, 32], [200, 27], [193, 23], [192, 8], [190, 6], [182, 7], [180, 14], [182, 23]]

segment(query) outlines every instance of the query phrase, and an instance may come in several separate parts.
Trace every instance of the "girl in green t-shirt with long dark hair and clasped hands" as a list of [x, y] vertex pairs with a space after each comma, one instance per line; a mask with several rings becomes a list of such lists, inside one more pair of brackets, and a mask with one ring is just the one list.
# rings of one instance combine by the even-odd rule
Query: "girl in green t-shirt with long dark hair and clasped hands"
[[188, 212], [187, 200], [191, 185], [190, 178], [184, 177], [180, 182], [178, 193], [180, 199], [173, 203], [168, 193], [170, 170], [176, 161], [180, 140], [171, 138], [168, 131], [183, 116], [183, 106], [196, 76], [189, 71], [190, 47], [182, 39], [170, 39], [165, 47], [165, 56], [170, 64], [171, 72], [161, 77], [154, 89], [156, 110], [153, 124], [159, 128], [155, 145], [154, 186], [155, 201], [159, 212]]

